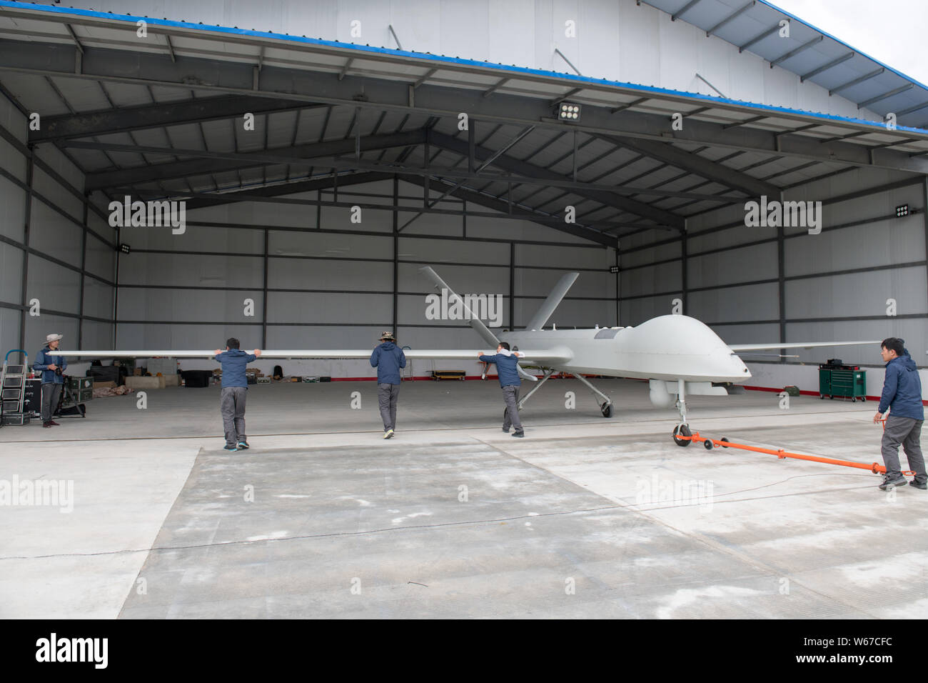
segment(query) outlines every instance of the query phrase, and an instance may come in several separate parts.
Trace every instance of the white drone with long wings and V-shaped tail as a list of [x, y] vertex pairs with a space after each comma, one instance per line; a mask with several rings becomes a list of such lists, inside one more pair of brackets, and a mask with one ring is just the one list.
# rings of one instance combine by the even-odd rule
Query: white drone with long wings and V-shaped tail
[[[751, 373], [738, 357], [737, 352], [758, 351], [778, 348], [837, 347], [860, 344], [879, 344], [878, 341], [858, 342], [810, 342], [770, 344], [727, 345], [709, 327], [695, 318], [685, 315], [662, 315], [642, 322], [638, 327], [602, 327], [597, 329], [558, 330], [544, 329], [548, 318], [558, 308], [561, 299], [574, 284], [579, 273], [567, 273], [551, 290], [548, 298], [519, 332], [505, 332], [496, 337], [489, 328], [474, 316], [464, 300], [455, 294], [445, 281], [429, 266], [419, 269], [435, 285], [435, 290], [446, 290], [448, 298], [459, 304], [470, 326], [483, 337], [493, 349], [500, 341], [509, 343], [513, 351], [519, 351], [520, 362], [539, 367], [544, 372], [541, 381], [534, 374], [519, 367], [525, 379], [538, 382], [519, 401], [519, 408], [554, 373], [572, 374], [603, 402], [599, 409], [603, 417], [612, 417], [612, 399], [590, 384], [584, 374], [601, 374], [613, 377], [647, 379], [651, 385], [651, 403], [664, 408], [676, 396], [680, 422], [674, 428], [674, 440], [679, 446], [690, 444], [686, 395], [726, 396], [727, 384], [740, 384], [750, 379]], [[521, 348], [520, 348], [521, 347]], [[474, 358], [474, 349], [425, 349], [407, 350], [406, 358], [412, 360], [458, 360]], [[151, 356], [173, 356], [175, 358], [212, 358], [208, 351], [58, 351], [56, 355], [105, 358], [147, 358]], [[312, 359], [368, 359], [369, 349], [295, 349], [262, 351], [261, 358], [312, 358]], [[484, 374], [485, 376], [485, 374]], [[716, 386], [719, 385], [719, 386]]]

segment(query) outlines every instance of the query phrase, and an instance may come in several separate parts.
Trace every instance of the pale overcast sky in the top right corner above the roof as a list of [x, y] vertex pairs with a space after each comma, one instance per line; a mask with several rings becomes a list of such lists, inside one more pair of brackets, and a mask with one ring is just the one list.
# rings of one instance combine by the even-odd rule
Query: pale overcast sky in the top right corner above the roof
[[928, 85], [928, 2], [925, 0], [769, 2]]

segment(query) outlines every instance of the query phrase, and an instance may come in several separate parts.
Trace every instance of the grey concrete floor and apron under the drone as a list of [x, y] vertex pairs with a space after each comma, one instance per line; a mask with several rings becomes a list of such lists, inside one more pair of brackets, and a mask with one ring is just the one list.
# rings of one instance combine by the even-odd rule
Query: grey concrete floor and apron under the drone
[[[614, 417], [552, 380], [524, 440], [499, 429], [496, 382], [404, 385], [389, 441], [371, 382], [251, 387], [238, 453], [222, 450], [217, 387], [5, 427], [0, 479], [72, 480], [74, 501], [0, 507], [0, 617], [928, 616], [928, 493], [679, 448], [647, 384], [596, 384]], [[873, 403], [779, 404], [693, 397], [690, 423], [880, 461]]]

